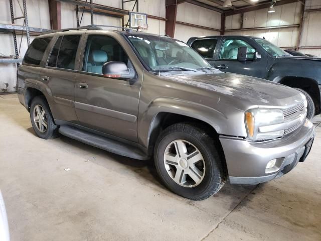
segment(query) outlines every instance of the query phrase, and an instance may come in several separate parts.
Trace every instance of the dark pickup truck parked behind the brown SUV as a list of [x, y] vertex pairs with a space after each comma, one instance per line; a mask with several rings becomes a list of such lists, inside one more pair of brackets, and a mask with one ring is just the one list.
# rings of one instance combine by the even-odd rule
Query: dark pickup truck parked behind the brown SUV
[[271, 80], [299, 90], [307, 99], [307, 115], [321, 112], [321, 58], [286, 53], [265, 39], [251, 36], [193, 37], [187, 42], [213, 67], [224, 72]]

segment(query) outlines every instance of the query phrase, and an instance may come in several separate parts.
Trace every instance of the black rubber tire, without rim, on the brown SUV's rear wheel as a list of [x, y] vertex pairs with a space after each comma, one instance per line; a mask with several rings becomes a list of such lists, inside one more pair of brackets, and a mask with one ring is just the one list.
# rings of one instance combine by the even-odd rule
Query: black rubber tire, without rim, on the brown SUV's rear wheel
[[[47, 130], [46, 132], [42, 133], [38, 130], [36, 127], [35, 121], [34, 121], [34, 108], [35, 106], [39, 104], [41, 105], [45, 111], [46, 111], [46, 116], [47, 116]], [[36, 96], [30, 106], [30, 121], [31, 125], [36, 133], [36, 135], [42, 139], [49, 139], [52, 135], [53, 132], [56, 130], [57, 126], [53, 122], [53, 117], [49, 108], [49, 105], [46, 101], [46, 99], [42, 96]]]

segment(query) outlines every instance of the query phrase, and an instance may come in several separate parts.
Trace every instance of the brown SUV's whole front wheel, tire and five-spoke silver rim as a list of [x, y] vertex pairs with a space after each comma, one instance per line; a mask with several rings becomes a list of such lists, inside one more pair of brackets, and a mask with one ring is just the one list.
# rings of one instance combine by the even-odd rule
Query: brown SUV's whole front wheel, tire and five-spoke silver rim
[[226, 169], [215, 141], [199, 127], [179, 123], [157, 138], [154, 162], [164, 184], [180, 196], [203, 200], [226, 181]]

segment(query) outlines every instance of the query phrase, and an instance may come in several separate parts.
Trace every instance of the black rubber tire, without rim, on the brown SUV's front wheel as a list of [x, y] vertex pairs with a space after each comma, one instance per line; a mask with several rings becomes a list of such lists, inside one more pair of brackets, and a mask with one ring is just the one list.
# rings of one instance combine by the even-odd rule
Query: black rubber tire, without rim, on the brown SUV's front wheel
[[[197, 135], [196, 135], [197, 136]], [[195, 145], [201, 152], [205, 162], [205, 176], [203, 181], [195, 187], [183, 187], [177, 184], [168, 174], [164, 164], [164, 153], [169, 143], [174, 140], [186, 140]], [[215, 150], [214, 144], [206, 143], [205, 140], [199, 140], [189, 133], [180, 131], [164, 133], [156, 144], [154, 162], [157, 172], [164, 184], [173, 192], [180, 196], [202, 200], [216, 193], [220, 188], [220, 180], [222, 177], [222, 167], [219, 155]]]

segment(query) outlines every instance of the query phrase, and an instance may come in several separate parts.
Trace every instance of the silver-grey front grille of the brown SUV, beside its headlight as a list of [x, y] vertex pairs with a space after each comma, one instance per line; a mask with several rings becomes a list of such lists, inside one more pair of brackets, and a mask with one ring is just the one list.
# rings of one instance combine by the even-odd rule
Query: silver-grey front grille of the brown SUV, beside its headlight
[[[283, 116], [284, 116], [284, 121], [285, 122], [291, 122], [295, 119], [300, 118], [300, 115], [305, 111], [304, 107], [304, 102], [297, 104], [293, 107], [287, 108], [282, 110]], [[289, 134], [291, 132], [294, 132], [296, 129], [298, 129], [303, 123], [304, 123], [304, 118], [302, 118], [300, 123], [296, 123], [293, 126], [288, 127], [286, 130], [284, 130], [284, 135]]]

